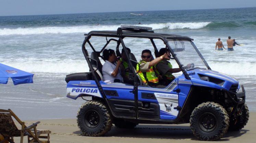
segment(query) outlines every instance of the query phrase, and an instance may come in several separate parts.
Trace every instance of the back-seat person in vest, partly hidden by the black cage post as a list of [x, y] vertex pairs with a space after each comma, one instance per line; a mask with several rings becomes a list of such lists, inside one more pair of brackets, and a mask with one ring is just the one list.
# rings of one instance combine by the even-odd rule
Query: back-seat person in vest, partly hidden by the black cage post
[[[127, 53], [130, 54], [131, 53], [131, 49], [130, 48], [127, 48]], [[121, 59], [120, 61], [122, 62], [121, 65], [120, 65], [120, 70], [121, 70], [121, 76], [123, 77], [123, 80], [124, 80], [124, 83], [129, 83], [129, 84], [134, 84], [134, 80], [133, 79], [129, 79], [129, 66], [128, 66], [128, 63], [127, 63], [127, 58], [125, 56], [125, 53], [124, 53], [124, 48], [122, 49], [122, 52], [121, 52]]]

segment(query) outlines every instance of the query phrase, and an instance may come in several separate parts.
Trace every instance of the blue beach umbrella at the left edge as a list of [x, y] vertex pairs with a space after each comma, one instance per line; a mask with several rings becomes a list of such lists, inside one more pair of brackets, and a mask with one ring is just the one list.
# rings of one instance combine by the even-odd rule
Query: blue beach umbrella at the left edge
[[0, 83], [7, 84], [11, 78], [14, 85], [22, 83], [33, 83], [34, 74], [13, 68], [0, 63]]

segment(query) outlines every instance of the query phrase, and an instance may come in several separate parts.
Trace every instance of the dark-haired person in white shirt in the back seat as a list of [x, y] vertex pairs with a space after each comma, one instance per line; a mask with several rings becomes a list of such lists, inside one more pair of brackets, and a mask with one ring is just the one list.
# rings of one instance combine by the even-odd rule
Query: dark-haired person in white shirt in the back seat
[[105, 63], [102, 66], [102, 74], [104, 82], [107, 84], [112, 84], [115, 82], [123, 82], [123, 78], [120, 74], [120, 64], [121, 61], [117, 59], [117, 55], [115, 55], [115, 51], [112, 49], [103, 50], [103, 59]]

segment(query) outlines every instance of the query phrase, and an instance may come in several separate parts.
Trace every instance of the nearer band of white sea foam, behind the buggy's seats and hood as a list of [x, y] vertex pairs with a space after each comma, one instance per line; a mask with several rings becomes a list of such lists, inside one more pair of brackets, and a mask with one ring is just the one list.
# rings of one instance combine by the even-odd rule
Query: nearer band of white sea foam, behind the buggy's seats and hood
[[[173, 68], [174, 61], [171, 61]], [[102, 62], [103, 64], [103, 62]], [[256, 63], [252, 62], [208, 62], [212, 70], [234, 76], [250, 76], [255, 75]], [[89, 68], [85, 60], [69, 60], [67, 61], [33, 61], [33, 62], [14, 62], [9, 66], [13, 66], [31, 73], [80, 73], [88, 72]]]

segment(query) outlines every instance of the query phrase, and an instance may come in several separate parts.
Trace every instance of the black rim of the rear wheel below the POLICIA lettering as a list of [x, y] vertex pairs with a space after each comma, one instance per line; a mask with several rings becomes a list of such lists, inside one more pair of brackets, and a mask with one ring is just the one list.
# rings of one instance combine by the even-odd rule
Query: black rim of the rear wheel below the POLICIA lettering
[[95, 110], [90, 110], [85, 113], [85, 124], [90, 128], [95, 128], [99, 125], [99, 113]]

